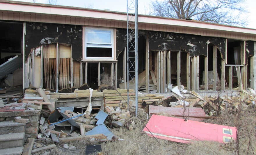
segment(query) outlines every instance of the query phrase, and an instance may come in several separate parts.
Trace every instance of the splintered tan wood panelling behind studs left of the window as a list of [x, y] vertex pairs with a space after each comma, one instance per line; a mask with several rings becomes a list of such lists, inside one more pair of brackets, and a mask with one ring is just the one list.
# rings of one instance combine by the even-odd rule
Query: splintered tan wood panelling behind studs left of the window
[[[59, 45], [58, 53], [56, 44], [46, 45], [43, 49], [45, 88], [57, 89], [57, 67], [58, 67], [58, 89], [70, 88], [70, 66], [71, 66], [71, 47]], [[60, 55], [57, 59], [57, 54]], [[58, 64], [57, 64], [58, 62]]]

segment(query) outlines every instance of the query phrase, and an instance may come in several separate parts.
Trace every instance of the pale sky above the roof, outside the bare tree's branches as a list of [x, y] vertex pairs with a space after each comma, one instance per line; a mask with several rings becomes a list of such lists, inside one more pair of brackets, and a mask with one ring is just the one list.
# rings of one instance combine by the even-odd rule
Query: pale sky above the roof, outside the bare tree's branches
[[[32, 0], [16, 0], [31, 2]], [[37, 0], [38, 3], [46, 3], [47, 0]], [[58, 5], [85, 7], [92, 6], [94, 9], [109, 9], [111, 11], [126, 12], [127, 1], [126, 0], [57, 0]], [[145, 8], [148, 7], [151, 0], [138, 0], [138, 13], [144, 14]], [[162, 0], [161, 0], [162, 1]], [[245, 0], [246, 4], [243, 4], [248, 10], [246, 15], [250, 22], [246, 27], [256, 29], [256, 0]]]

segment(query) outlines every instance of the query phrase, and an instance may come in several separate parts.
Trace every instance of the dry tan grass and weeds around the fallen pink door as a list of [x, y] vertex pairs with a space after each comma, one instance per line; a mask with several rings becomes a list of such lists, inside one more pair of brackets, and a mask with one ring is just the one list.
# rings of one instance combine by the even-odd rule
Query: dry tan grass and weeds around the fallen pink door
[[[137, 128], [133, 131], [124, 128], [113, 128], [112, 132], [117, 139], [112, 142], [102, 143], [102, 152], [108, 155], [135, 155], [135, 154], [255, 154], [256, 152], [256, 108], [239, 107], [239, 110], [233, 110], [216, 117], [207, 119], [205, 122], [220, 124], [225, 126], [235, 126], [238, 129], [238, 140], [236, 142], [221, 144], [218, 142], [198, 141], [191, 144], [179, 144], [161, 139], [154, 139], [142, 133], [143, 123], [147, 122], [146, 115], [141, 110], [138, 111], [139, 118], [131, 117], [127, 120], [135, 121]], [[51, 150], [51, 154], [85, 154], [86, 145], [92, 144], [87, 139], [72, 143], [76, 150], [63, 148], [63, 144], [58, 145], [56, 149]]]

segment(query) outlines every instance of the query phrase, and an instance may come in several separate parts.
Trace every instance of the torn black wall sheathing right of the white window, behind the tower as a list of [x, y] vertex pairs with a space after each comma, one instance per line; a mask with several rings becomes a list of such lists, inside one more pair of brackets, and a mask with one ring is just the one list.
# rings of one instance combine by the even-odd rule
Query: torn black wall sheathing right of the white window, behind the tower
[[[117, 29], [117, 56], [127, 45], [127, 30]], [[190, 56], [207, 56], [207, 46], [209, 43], [216, 45], [225, 60], [226, 43], [225, 38], [207, 37], [192, 34], [179, 34], [171, 32], [157, 32], [139, 30], [138, 36], [148, 34], [149, 49], [153, 51], [179, 51], [183, 49]], [[193, 44], [191, 46], [188, 43]]]

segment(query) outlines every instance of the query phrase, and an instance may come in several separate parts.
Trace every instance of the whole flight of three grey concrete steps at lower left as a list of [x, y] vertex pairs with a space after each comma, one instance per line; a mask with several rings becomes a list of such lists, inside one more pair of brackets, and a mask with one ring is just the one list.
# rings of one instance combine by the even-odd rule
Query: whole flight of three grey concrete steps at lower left
[[0, 155], [20, 155], [23, 152], [25, 123], [0, 122]]

